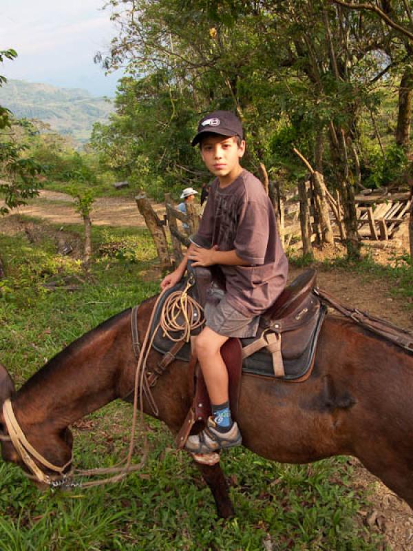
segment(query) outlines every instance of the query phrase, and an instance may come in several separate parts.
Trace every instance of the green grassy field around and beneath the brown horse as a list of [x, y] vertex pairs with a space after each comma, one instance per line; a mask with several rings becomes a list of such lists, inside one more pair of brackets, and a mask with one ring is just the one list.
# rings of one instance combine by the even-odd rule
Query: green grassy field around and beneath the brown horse
[[[56, 253], [52, 229], [0, 234], [8, 279], [0, 282], [0, 361], [20, 386], [64, 346], [158, 290], [146, 231], [94, 229], [89, 273]], [[76, 236], [80, 227], [71, 227]], [[49, 291], [47, 282], [76, 286]], [[107, 466], [123, 454], [131, 407], [109, 404], [74, 428], [78, 467]], [[149, 420], [149, 460], [122, 484], [40, 494], [0, 464], [0, 550], [356, 551], [383, 549], [361, 521], [366, 495], [344, 457], [311, 466], [266, 461], [244, 449], [225, 454], [237, 516], [218, 520], [209, 489], [162, 424]], [[139, 453], [137, 454], [139, 459]]]

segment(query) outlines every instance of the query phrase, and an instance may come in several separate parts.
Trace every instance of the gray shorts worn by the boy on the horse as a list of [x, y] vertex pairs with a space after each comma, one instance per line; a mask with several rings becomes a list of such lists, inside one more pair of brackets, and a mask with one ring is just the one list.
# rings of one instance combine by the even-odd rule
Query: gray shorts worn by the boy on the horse
[[204, 309], [205, 325], [224, 337], [255, 337], [260, 316], [248, 317], [228, 304], [226, 296], [218, 304], [207, 302]]

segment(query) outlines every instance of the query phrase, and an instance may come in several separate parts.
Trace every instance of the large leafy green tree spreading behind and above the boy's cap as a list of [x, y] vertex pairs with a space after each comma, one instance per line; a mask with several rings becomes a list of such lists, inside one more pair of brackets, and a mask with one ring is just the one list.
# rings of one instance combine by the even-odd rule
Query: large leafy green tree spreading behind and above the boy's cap
[[108, 70], [127, 65], [131, 76], [111, 125], [96, 129], [100, 151], [116, 147], [131, 174], [147, 163], [148, 178], [167, 187], [183, 178], [195, 183], [200, 166], [189, 137], [196, 119], [214, 108], [236, 110], [249, 169], [268, 167], [270, 178], [288, 173], [294, 181], [303, 169], [293, 147], [314, 158], [341, 195], [348, 256], [358, 258], [361, 118], [377, 109], [388, 74], [383, 66], [396, 67], [399, 55], [376, 14], [322, 0], [112, 0], [109, 6], [120, 32], [109, 55], [98, 59]]

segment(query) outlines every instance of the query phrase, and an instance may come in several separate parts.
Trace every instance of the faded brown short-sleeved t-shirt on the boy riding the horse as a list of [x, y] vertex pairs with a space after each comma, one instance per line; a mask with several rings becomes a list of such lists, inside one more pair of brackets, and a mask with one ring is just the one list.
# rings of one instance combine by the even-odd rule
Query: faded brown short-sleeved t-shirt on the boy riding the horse
[[263, 313], [283, 291], [288, 261], [277, 233], [273, 205], [260, 180], [243, 170], [229, 186], [216, 178], [193, 242], [232, 251], [248, 266], [221, 264], [229, 304], [244, 315]]

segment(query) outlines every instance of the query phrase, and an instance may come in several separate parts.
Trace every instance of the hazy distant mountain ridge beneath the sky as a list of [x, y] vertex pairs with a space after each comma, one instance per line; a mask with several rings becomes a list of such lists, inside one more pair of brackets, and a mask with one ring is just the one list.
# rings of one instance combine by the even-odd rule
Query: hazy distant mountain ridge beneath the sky
[[105, 122], [114, 110], [111, 101], [86, 90], [14, 80], [0, 87], [0, 105], [18, 118], [39, 118], [80, 143], [89, 140], [94, 123]]

